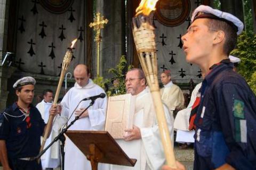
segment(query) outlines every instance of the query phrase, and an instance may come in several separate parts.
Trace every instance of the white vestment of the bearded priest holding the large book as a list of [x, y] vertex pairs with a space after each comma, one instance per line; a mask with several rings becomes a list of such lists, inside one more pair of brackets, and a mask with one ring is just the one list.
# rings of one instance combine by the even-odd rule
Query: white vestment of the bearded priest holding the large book
[[[133, 124], [140, 128], [141, 139], [116, 140], [129, 158], [137, 159], [134, 167], [110, 165], [111, 170], [161, 169], [165, 163], [164, 150], [159, 134], [154, 103], [150, 92], [144, 90], [136, 96]], [[167, 126], [173, 141], [173, 117], [164, 106]], [[173, 144], [173, 143], [172, 143]]]

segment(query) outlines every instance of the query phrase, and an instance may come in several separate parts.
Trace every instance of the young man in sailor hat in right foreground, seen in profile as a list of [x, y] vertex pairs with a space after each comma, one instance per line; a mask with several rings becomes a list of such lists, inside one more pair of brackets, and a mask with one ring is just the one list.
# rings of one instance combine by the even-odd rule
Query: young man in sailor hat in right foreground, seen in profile
[[206, 72], [194, 122], [194, 169], [256, 169], [256, 98], [228, 59], [243, 23], [204, 5], [191, 21], [183, 50]]

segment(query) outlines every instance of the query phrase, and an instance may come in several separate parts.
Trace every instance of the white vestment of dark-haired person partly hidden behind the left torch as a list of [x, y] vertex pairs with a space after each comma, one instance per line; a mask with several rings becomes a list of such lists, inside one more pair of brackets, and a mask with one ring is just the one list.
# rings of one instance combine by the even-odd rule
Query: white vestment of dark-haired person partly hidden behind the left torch
[[[49, 110], [52, 106], [52, 103], [47, 103], [44, 100], [42, 100], [40, 103], [36, 105], [36, 108], [41, 113], [41, 116], [45, 123], [48, 122], [49, 119]], [[54, 122], [53, 122], [54, 124]], [[50, 144], [54, 137], [58, 135], [58, 132], [53, 131], [51, 132], [50, 136], [45, 142], [44, 148], [47, 147], [48, 144]], [[41, 138], [43, 139], [43, 137]], [[42, 160], [42, 167], [45, 168], [57, 168], [60, 165], [60, 159], [59, 159], [59, 141], [52, 144], [52, 146], [44, 153], [44, 155], [41, 157]]]

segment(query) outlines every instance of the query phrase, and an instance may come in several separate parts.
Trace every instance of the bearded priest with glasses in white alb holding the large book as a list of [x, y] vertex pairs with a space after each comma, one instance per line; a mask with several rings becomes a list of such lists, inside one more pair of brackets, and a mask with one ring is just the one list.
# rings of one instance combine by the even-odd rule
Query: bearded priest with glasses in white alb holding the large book
[[[159, 134], [154, 103], [146, 88], [146, 78], [141, 69], [132, 69], [125, 78], [127, 93], [135, 95], [135, 113], [133, 128], [123, 140], [116, 140], [129, 158], [137, 159], [134, 167], [110, 165], [111, 170], [145, 170], [161, 169], [165, 163], [164, 150]], [[173, 117], [164, 107], [167, 126], [173, 141]]]

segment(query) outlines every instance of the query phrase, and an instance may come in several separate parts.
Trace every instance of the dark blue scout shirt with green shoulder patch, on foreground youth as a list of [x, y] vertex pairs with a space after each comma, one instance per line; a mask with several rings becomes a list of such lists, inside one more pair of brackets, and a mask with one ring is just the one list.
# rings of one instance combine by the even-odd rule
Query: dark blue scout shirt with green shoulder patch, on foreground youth
[[256, 169], [256, 98], [233, 63], [215, 64], [202, 84], [194, 169]]

